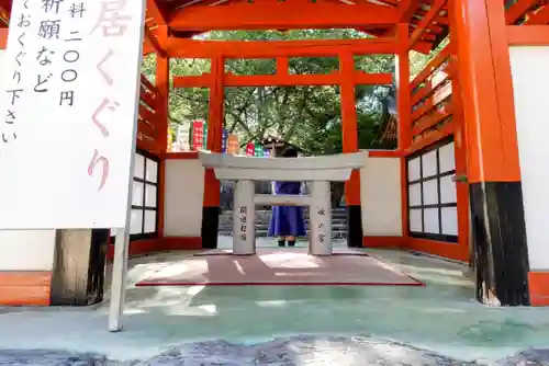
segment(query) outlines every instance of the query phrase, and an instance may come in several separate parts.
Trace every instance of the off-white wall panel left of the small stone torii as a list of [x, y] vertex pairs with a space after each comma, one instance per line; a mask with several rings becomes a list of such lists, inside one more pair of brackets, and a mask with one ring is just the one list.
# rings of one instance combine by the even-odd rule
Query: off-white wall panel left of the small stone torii
[[166, 160], [166, 237], [200, 237], [204, 168], [200, 160]]

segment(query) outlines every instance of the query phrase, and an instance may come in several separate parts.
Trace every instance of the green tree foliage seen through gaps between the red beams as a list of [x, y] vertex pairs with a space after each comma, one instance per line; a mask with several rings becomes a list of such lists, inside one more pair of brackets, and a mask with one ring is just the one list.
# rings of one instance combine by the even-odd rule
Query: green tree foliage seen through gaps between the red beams
[[[322, 30], [290, 32], [211, 32], [206, 39], [283, 41], [312, 38], [365, 37], [358, 31]], [[427, 57], [412, 57], [412, 72], [421, 69]], [[356, 68], [365, 72], [394, 72], [394, 57], [385, 55], [356, 57]], [[329, 57], [292, 58], [290, 73], [329, 73], [338, 70], [338, 59]], [[155, 60], [146, 58], [145, 75], [154, 79]], [[173, 59], [171, 76], [201, 75], [210, 71], [204, 59]], [[274, 59], [229, 59], [225, 71], [234, 75], [270, 75], [276, 72]], [[379, 142], [380, 127], [386, 113], [390, 87], [360, 85], [356, 88], [359, 148], [390, 148]], [[193, 119], [208, 119], [206, 89], [171, 89], [170, 116], [190, 128]], [[385, 107], [384, 107], [385, 106]], [[225, 88], [225, 128], [237, 134], [240, 142], [261, 140], [276, 135], [313, 155], [341, 151], [341, 111], [339, 88], [327, 87], [260, 87]]]

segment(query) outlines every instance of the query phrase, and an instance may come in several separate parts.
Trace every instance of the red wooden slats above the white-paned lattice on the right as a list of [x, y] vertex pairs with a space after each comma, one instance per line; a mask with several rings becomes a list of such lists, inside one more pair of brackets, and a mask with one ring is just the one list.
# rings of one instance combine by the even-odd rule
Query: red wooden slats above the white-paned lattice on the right
[[453, 131], [451, 81], [455, 72], [448, 45], [411, 82], [412, 147]]

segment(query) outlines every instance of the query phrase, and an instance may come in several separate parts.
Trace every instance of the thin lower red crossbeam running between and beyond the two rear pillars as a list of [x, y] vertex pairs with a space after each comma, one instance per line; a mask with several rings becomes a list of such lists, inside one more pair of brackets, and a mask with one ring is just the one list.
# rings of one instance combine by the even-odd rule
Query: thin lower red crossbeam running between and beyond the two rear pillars
[[[356, 84], [391, 84], [392, 73], [366, 73], [356, 71], [352, 80]], [[328, 75], [232, 75], [225, 73], [225, 87], [293, 87], [293, 85], [337, 85], [343, 81], [339, 72]], [[193, 77], [173, 78], [173, 88], [210, 88], [212, 76], [204, 73]]]

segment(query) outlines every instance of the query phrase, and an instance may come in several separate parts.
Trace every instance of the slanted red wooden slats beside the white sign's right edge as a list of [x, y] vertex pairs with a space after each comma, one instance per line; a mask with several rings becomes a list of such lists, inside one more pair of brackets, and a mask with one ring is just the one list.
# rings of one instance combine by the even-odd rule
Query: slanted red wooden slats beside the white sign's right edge
[[152, 152], [161, 150], [159, 131], [163, 123], [161, 114], [159, 113], [159, 95], [158, 91], [141, 75], [141, 92], [139, 92], [139, 122], [137, 125], [137, 147]]

